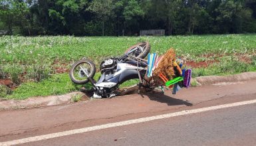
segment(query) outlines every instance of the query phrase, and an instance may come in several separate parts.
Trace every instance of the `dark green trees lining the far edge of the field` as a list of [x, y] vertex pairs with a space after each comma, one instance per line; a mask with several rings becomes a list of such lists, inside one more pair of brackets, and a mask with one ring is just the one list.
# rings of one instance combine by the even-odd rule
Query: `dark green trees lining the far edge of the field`
[[0, 0], [0, 34], [256, 33], [255, 0]]

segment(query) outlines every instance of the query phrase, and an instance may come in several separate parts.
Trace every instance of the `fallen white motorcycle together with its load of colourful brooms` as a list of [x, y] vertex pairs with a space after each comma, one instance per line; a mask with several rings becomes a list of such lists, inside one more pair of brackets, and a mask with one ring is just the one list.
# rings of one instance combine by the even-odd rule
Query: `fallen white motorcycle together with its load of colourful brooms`
[[[173, 48], [158, 56], [150, 54], [150, 44], [140, 42], [126, 50], [120, 57], [108, 58], [100, 64], [101, 76], [96, 82], [95, 64], [87, 59], [79, 60], [72, 65], [70, 78], [76, 84], [93, 85], [94, 98], [111, 98], [118, 94], [120, 84], [134, 78], [140, 79], [141, 87], [154, 90], [159, 86], [172, 88], [176, 94], [182, 87], [190, 87], [192, 70], [184, 67], [181, 59], [176, 59]], [[144, 60], [148, 56], [147, 60]]]

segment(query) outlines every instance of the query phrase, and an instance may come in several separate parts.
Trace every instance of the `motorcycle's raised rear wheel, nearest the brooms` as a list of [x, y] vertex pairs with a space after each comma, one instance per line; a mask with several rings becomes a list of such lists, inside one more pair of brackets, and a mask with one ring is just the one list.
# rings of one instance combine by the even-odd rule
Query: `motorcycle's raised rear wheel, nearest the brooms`
[[142, 59], [144, 59], [149, 52], [150, 52], [150, 44], [148, 42], [139, 42], [134, 46], [130, 46], [130, 48], [126, 50], [126, 54], [130, 54], [132, 56], [142, 58]]

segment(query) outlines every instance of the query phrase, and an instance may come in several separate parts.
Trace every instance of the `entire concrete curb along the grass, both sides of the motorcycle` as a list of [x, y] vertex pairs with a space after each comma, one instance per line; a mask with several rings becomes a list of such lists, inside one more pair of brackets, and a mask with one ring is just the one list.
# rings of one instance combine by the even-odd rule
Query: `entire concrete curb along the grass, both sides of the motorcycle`
[[[199, 86], [227, 82], [243, 82], [247, 80], [256, 80], [256, 72], [244, 72], [230, 76], [200, 76], [193, 79], [193, 81], [197, 82], [197, 85]], [[125, 94], [134, 94], [137, 91], [138, 86], [130, 86], [130, 88], [126, 88], [120, 96]], [[59, 104], [70, 104], [70, 102], [72, 102], [72, 97], [78, 94], [84, 95], [82, 92], [72, 92], [61, 96], [37, 97], [29, 98], [27, 100], [4, 100], [0, 101], [0, 111], [6, 109], [23, 109], [42, 106], [54, 106]]]

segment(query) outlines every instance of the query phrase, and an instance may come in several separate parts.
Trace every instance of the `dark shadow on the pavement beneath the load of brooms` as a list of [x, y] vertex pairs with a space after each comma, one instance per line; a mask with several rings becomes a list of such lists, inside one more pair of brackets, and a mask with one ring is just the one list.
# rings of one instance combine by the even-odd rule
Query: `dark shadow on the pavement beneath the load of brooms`
[[162, 93], [152, 93], [152, 94], [140, 94], [143, 98], [144, 95], [148, 96], [150, 100], [154, 100], [161, 103], [166, 103], [168, 106], [177, 106], [177, 105], [186, 105], [186, 106], [193, 106], [192, 103], [184, 100], [179, 100], [177, 98], [172, 98], [170, 96], [166, 96]]

